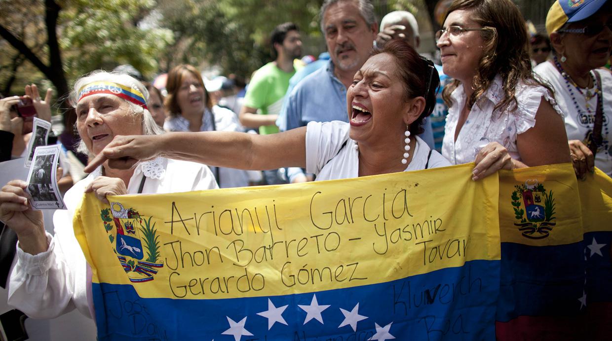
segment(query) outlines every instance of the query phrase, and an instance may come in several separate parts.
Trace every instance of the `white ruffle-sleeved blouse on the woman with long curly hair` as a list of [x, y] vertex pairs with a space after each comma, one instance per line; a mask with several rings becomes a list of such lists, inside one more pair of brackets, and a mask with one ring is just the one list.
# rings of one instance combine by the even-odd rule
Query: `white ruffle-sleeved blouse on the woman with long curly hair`
[[442, 155], [452, 164], [470, 163], [476, 160], [476, 155], [482, 147], [489, 142], [498, 142], [508, 150], [513, 159], [520, 161], [517, 135], [535, 126], [535, 113], [540, 108], [542, 97], [559, 115], [563, 114], [554, 98], [543, 86], [518, 84], [515, 97], [518, 103], [515, 110], [493, 110], [495, 105], [504, 99], [501, 76], [496, 76], [485, 94], [472, 106], [468, 119], [457, 136], [457, 141], [454, 141], [460, 112], [467, 100], [463, 84], [458, 86], [450, 94], [452, 105], [444, 126]]

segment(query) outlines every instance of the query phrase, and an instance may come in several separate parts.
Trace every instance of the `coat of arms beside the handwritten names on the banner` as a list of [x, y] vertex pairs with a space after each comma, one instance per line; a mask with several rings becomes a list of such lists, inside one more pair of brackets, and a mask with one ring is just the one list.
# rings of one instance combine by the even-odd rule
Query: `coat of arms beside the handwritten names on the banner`
[[110, 208], [100, 211], [100, 218], [130, 282], [152, 281], [157, 269], [163, 267], [152, 217], [147, 219], [133, 208], [125, 209], [121, 203], [111, 202]]

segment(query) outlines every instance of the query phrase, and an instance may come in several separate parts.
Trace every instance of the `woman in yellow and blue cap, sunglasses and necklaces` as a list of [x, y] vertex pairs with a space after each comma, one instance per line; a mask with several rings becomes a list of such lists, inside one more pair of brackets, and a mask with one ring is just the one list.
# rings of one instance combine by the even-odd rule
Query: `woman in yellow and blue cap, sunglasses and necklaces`
[[599, 69], [612, 49], [612, 1], [585, 0], [578, 5], [556, 1], [546, 30], [553, 59], [535, 73], [554, 88], [565, 114], [570, 158], [578, 178], [597, 166], [612, 177], [612, 76]]

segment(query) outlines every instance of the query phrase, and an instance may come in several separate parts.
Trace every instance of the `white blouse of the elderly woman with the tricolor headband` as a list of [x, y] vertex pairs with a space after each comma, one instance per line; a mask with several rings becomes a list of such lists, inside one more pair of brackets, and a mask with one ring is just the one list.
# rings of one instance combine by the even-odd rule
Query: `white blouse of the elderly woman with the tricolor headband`
[[[72, 217], [89, 183], [102, 174], [98, 167], [70, 188], [64, 196], [67, 210], [53, 215], [54, 236], [47, 233], [49, 248], [37, 255], [23, 252], [17, 244], [17, 264], [10, 274], [10, 306], [32, 318], [54, 318], [78, 309], [91, 317], [91, 270], [76, 241]], [[142, 193], [177, 193], [218, 188], [211, 170], [203, 164], [157, 158], [136, 167], [127, 193], [136, 194], [146, 177]], [[89, 276], [88, 276], [89, 274]]]

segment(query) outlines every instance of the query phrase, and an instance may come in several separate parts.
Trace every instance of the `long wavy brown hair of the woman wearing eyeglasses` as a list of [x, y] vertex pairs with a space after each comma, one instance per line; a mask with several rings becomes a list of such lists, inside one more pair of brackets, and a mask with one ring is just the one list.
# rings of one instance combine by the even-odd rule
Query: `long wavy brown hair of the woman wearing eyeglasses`
[[[482, 27], [494, 30], [480, 31], [485, 41], [476, 74], [472, 78], [474, 92], [468, 98], [468, 106], [487, 91], [496, 75], [502, 78], [504, 99], [494, 109], [505, 108], [514, 111], [518, 108], [515, 97], [517, 84], [543, 86], [551, 95], [553, 90], [547, 84], [534, 78], [529, 57], [529, 41], [523, 15], [517, 5], [510, 0], [455, 0], [450, 4], [447, 16], [455, 10], [474, 10], [471, 19]], [[442, 92], [447, 106], [452, 106], [450, 94], [461, 84], [455, 79]]]

